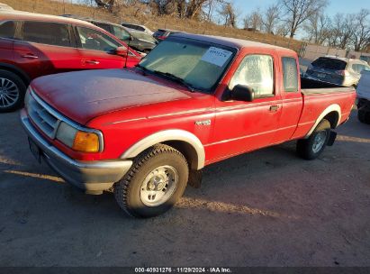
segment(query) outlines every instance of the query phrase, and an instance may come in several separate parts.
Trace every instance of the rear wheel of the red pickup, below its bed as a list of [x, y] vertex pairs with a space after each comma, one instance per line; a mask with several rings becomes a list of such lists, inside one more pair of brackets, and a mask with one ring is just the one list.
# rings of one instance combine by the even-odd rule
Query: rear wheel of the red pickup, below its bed
[[314, 160], [318, 158], [329, 141], [330, 123], [328, 120], [322, 120], [308, 139], [298, 140], [297, 154], [305, 160]]

